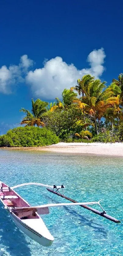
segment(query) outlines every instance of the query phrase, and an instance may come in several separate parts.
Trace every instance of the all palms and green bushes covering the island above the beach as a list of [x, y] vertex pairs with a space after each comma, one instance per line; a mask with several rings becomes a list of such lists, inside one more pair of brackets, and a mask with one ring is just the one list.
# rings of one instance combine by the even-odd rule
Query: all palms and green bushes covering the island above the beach
[[[32, 99], [31, 111], [21, 108], [20, 112], [25, 114], [20, 126], [0, 136], [0, 147], [122, 142], [123, 74], [109, 86], [84, 75], [75, 87], [63, 90], [62, 99], [55, 98], [53, 103]], [[63, 148], [62, 143], [58, 145]]]

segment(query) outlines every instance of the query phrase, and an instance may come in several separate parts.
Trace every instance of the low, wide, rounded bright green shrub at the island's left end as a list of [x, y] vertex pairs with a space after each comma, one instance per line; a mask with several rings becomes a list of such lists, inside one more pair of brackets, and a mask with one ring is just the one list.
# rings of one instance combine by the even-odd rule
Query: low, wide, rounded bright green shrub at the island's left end
[[34, 126], [17, 127], [0, 136], [0, 147], [38, 147], [58, 142], [52, 131]]

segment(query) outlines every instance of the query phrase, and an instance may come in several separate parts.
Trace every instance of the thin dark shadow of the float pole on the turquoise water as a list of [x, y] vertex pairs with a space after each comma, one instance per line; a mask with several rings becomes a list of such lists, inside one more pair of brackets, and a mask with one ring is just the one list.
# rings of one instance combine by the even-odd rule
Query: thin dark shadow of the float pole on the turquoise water
[[[52, 199], [50, 196], [47, 196], [50, 200], [52, 200], [52, 203], [59, 203], [59, 201]], [[97, 232], [98, 234], [100, 233], [103, 238], [107, 238], [108, 236], [108, 232], [106, 231], [106, 229], [99, 223], [93, 221], [93, 220], [89, 220], [87, 217], [79, 214], [76, 210], [71, 209], [70, 207], [67, 206], [63, 206], [65, 210], [67, 210], [67, 212], [70, 213], [69, 218], [72, 219], [72, 221], [74, 223], [76, 223], [77, 221], [77, 225], [84, 225], [84, 226], [88, 226], [90, 227], [90, 229], [94, 232]], [[92, 217], [93, 218], [93, 217]]]

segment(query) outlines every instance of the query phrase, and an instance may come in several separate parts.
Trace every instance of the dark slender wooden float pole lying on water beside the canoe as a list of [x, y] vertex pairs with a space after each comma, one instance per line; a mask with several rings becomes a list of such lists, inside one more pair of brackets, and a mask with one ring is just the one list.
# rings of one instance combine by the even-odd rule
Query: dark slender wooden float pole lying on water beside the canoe
[[[57, 195], [57, 196], [61, 196], [61, 197], [65, 198], [65, 199], [71, 201], [72, 203], [78, 203], [77, 201], [75, 201], [75, 200], [73, 200], [73, 199], [71, 199], [71, 198], [69, 198], [69, 197], [67, 197], [67, 196], [64, 196], [64, 195], [62, 195], [62, 194], [60, 194], [60, 193], [58, 193], [58, 192], [56, 192], [56, 191], [54, 191], [54, 190], [51, 190], [51, 189], [49, 189], [49, 188], [47, 188], [47, 190], [48, 190], [49, 192], [51, 192], [51, 193]], [[96, 210], [96, 209], [94, 209], [94, 208], [92, 208], [92, 207], [89, 207], [89, 206], [87, 206], [87, 205], [80, 205], [80, 206], [83, 207], [83, 208], [85, 208], [85, 209], [87, 209], [87, 210], [90, 210], [90, 211], [92, 211], [93, 213], [98, 214], [98, 215], [100, 215], [101, 217], [104, 217], [104, 218], [106, 218], [106, 219], [108, 219], [108, 220], [110, 220], [110, 221], [113, 221], [113, 222], [115, 222], [115, 223], [121, 223], [121, 221], [119, 221], [119, 220], [113, 218], [112, 216], [106, 214], [105, 212], [100, 212], [99, 210]]]

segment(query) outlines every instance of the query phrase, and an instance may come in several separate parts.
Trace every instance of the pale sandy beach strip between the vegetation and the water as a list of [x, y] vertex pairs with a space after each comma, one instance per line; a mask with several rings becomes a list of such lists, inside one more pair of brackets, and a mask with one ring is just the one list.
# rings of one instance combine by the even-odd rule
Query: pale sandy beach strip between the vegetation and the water
[[44, 147], [2, 147], [3, 150], [50, 151], [84, 155], [123, 156], [123, 143], [65, 143], [59, 142]]

